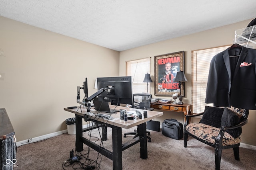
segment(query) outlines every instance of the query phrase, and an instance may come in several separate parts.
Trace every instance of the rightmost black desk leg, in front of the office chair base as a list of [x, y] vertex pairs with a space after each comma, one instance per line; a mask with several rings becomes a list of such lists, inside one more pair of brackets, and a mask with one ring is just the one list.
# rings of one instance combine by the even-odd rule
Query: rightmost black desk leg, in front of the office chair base
[[146, 123], [138, 125], [138, 133], [144, 137], [144, 140], [140, 141], [140, 158], [148, 158], [148, 146], [147, 146], [147, 134]]

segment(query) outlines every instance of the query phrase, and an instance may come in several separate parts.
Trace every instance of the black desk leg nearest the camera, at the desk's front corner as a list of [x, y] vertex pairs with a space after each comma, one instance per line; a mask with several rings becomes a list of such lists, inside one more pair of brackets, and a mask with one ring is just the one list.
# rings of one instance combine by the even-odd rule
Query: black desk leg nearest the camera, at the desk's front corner
[[113, 170], [122, 170], [122, 128], [112, 127]]

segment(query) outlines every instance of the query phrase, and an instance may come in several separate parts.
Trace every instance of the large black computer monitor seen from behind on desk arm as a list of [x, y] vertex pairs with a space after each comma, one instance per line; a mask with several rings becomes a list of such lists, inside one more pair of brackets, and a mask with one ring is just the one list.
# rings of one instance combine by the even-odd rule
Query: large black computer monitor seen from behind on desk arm
[[112, 105], [132, 103], [132, 77], [102, 77], [97, 78], [98, 90], [106, 88], [99, 95], [99, 101], [111, 102]]

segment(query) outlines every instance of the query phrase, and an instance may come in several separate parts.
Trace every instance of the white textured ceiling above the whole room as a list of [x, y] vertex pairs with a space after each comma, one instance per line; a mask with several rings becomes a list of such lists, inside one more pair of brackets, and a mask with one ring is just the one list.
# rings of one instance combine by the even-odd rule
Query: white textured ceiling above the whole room
[[116, 51], [252, 19], [255, 9], [255, 0], [0, 0], [0, 16]]

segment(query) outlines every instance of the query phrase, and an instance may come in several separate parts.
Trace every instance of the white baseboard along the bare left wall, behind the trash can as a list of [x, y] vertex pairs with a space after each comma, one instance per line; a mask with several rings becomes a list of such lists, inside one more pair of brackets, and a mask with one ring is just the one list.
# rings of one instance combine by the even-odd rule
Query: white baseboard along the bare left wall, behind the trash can
[[[88, 126], [90, 127], [91, 124], [90, 125], [83, 125], [83, 129], [87, 128]], [[42, 135], [42, 136], [39, 136], [39, 137], [29, 138], [29, 139], [26, 139], [24, 141], [16, 142], [16, 145], [17, 145], [17, 147], [19, 147], [21, 145], [34, 143], [34, 142], [42, 141], [42, 140], [45, 140], [45, 139], [48, 139], [48, 138], [51, 138], [51, 137], [62, 135], [63, 133], [67, 133], [67, 132], [68, 132], [68, 130], [66, 129], [66, 130], [63, 130], [63, 131], [58, 131], [58, 132]]]

